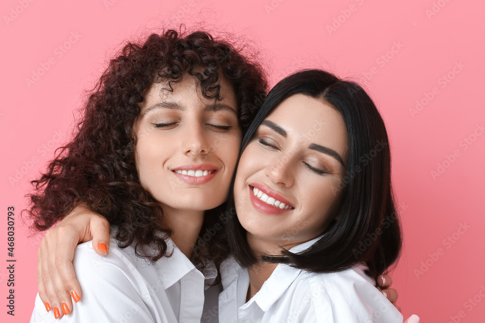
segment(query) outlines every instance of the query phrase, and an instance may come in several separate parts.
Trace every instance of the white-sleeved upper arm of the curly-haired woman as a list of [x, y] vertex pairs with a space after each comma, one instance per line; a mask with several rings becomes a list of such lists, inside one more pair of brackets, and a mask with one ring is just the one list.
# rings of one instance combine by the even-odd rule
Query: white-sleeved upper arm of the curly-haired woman
[[[76, 248], [73, 265], [85, 297], [66, 316], [67, 322], [155, 322], [143, 298], [143, 281], [122, 255], [102, 258], [86, 243]], [[31, 322], [57, 322], [38, 295]]]

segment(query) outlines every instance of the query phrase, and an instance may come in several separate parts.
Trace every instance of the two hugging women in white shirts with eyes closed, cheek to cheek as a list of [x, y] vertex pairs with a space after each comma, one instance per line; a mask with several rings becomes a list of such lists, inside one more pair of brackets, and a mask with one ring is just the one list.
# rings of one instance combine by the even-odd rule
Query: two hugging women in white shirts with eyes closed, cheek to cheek
[[34, 181], [36, 230], [69, 215], [31, 322], [402, 322], [375, 287], [401, 231], [372, 99], [322, 70], [266, 89], [205, 32], [126, 45]]

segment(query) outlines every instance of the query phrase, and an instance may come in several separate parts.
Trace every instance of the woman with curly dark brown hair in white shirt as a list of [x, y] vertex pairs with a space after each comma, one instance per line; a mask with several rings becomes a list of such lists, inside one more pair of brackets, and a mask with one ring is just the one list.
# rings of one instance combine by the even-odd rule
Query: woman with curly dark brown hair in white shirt
[[92, 243], [78, 246], [84, 301], [73, 311], [81, 289], [56, 293], [49, 287], [63, 281], [51, 277], [32, 322], [71, 311], [72, 322], [200, 322], [205, 279], [217, 276], [210, 264], [227, 247], [222, 230], [192, 246], [224, 207], [242, 134], [265, 91], [258, 64], [205, 32], [169, 30], [124, 46], [76, 136], [33, 181], [29, 211], [45, 231], [82, 202], [113, 225], [117, 246], [105, 258]]

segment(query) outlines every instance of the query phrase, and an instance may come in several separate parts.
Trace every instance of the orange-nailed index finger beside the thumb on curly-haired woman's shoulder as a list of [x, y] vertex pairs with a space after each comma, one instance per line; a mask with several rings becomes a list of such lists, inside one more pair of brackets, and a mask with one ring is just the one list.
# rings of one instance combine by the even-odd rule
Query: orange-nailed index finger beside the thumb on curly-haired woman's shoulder
[[[70, 230], [71, 227], [60, 227], [58, 230], [57, 248], [55, 250], [55, 266], [57, 273], [64, 285], [64, 290], [67, 291], [72, 299], [77, 303], [81, 299], [81, 286], [76, 279], [72, 261], [74, 259], [74, 250], [79, 241], [75, 231]], [[61, 242], [61, 239], [63, 240]], [[72, 307], [71, 307], [72, 308]]]

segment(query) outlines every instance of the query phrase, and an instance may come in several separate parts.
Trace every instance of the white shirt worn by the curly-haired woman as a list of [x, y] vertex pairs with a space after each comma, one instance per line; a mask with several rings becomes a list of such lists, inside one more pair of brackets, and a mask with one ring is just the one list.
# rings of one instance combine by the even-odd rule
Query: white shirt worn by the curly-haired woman
[[[82, 299], [73, 302], [73, 310], [62, 321], [200, 323], [204, 290], [208, 287], [205, 283], [211, 283], [217, 276], [215, 266], [209, 264], [204, 277], [172, 240], [166, 242], [173, 254], [162, 257], [155, 265], [137, 257], [131, 246], [119, 248], [113, 238], [105, 257], [93, 250], [91, 241], [78, 245], [73, 265]], [[33, 322], [57, 322], [38, 294]]]

